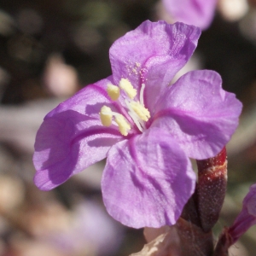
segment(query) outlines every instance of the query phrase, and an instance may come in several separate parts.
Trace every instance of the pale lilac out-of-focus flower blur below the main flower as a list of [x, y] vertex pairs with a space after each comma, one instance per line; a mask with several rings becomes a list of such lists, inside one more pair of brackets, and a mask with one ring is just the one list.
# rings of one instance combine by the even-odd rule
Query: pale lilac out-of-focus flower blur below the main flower
[[44, 236], [64, 255], [113, 255], [122, 241], [121, 227], [95, 201], [80, 201], [69, 220], [65, 228]]

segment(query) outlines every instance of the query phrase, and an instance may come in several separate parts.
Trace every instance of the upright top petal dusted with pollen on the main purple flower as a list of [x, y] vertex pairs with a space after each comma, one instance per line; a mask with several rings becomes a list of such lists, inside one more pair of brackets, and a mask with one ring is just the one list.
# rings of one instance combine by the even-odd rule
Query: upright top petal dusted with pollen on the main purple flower
[[138, 90], [146, 84], [144, 102], [151, 111], [160, 92], [193, 54], [200, 35], [198, 27], [183, 23], [143, 22], [109, 50], [115, 84], [121, 78]]

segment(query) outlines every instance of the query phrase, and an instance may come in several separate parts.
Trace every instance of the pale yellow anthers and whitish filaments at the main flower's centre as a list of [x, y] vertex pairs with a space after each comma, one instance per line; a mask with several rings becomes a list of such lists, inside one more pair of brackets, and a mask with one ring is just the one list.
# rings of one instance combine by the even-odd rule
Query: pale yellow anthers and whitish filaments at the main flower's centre
[[[124, 98], [127, 113], [133, 120], [134, 124], [137, 125], [138, 130], [143, 132], [146, 129], [145, 122], [147, 122], [150, 118], [148, 108], [144, 107], [143, 102], [145, 84], [142, 84], [142, 88], [140, 90], [140, 99], [137, 102], [134, 101], [135, 96], [137, 96], [137, 90], [133, 88], [128, 79], [121, 79], [119, 81], [119, 86], [108, 84], [107, 91], [111, 100], [119, 100], [120, 89], [125, 92]], [[114, 120], [113, 116], [115, 117]], [[125, 119], [125, 116], [121, 113], [113, 112], [111, 108], [108, 108], [107, 106], [103, 106], [101, 108], [100, 118], [102, 125], [104, 126], [110, 126], [112, 124], [118, 125], [120, 133], [124, 136], [127, 136], [131, 130], [131, 123]]]

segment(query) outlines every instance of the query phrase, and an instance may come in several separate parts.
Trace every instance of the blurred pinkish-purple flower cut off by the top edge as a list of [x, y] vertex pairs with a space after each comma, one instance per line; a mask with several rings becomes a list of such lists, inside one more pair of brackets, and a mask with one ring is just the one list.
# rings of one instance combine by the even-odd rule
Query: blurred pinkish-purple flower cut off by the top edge
[[210, 26], [217, 0], [162, 0], [176, 21], [207, 29]]

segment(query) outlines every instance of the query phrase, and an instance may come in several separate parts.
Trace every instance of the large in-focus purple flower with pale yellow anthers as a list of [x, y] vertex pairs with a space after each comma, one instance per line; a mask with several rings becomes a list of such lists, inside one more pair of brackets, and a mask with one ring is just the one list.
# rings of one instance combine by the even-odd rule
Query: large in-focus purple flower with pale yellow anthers
[[86, 86], [44, 118], [34, 182], [49, 190], [104, 159], [102, 196], [113, 218], [140, 228], [175, 224], [195, 190], [189, 157], [218, 154], [238, 125], [241, 102], [218, 73], [174, 75], [200, 29], [145, 21], [110, 48], [113, 75]]

